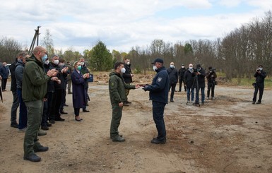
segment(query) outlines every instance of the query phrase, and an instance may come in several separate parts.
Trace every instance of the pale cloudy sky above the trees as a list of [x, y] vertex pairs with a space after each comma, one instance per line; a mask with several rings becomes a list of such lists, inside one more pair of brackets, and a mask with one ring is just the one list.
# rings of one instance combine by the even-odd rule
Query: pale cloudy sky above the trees
[[129, 52], [155, 39], [215, 40], [271, 11], [271, 0], [1, 0], [0, 36], [30, 47], [49, 29], [56, 49], [91, 49], [97, 40], [110, 51]]

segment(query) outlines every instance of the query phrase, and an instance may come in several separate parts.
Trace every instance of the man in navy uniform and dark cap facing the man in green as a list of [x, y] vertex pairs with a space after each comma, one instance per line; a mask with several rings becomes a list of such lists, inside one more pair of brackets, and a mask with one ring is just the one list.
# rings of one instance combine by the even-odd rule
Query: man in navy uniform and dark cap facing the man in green
[[153, 120], [158, 131], [157, 138], [153, 138], [151, 143], [158, 144], [166, 142], [165, 120], [163, 114], [165, 105], [168, 103], [169, 76], [165, 66], [163, 66], [162, 59], [155, 59], [151, 64], [153, 64], [153, 70], [156, 71], [157, 74], [154, 76], [152, 84], [146, 85], [143, 90], [149, 91], [149, 100], [152, 100], [153, 106]]

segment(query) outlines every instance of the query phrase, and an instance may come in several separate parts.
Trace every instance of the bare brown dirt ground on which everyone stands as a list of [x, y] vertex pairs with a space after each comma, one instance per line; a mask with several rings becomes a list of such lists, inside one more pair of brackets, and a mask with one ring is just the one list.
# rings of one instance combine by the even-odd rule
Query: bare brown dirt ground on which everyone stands
[[[134, 79], [150, 83], [152, 76]], [[155, 145], [148, 92], [131, 90], [132, 104], [124, 107], [119, 126], [126, 141], [114, 143], [107, 73], [100, 73], [90, 83], [90, 112], [81, 112], [83, 121], [74, 120], [67, 95], [66, 120], [40, 136], [49, 150], [37, 153], [41, 162], [29, 162], [23, 160], [24, 133], [10, 126], [8, 90], [0, 103], [0, 172], [272, 172], [272, 90], [264, 91], [261, 105], [252, 105], [253, 91], [219, 84], [215, 100], [201, 107], [186, 105], [184, 91], [176, 92], [165, 107], [167, 143]]]

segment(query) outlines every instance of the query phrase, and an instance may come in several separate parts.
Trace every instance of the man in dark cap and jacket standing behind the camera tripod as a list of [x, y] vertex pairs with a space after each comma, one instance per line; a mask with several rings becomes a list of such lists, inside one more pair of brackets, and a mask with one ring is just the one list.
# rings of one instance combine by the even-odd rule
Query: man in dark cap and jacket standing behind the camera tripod
[[[205, 102], [205, 76], [206, 72], [205, 70], [201, 67], [200, 64], [196, 65], [196, 76], [198, 76], [199, 80], [199, 90], [201, 90], [201, 105], [204, 105]], [[199, 90], [196, 88], [196, 105], [199, 105]]]

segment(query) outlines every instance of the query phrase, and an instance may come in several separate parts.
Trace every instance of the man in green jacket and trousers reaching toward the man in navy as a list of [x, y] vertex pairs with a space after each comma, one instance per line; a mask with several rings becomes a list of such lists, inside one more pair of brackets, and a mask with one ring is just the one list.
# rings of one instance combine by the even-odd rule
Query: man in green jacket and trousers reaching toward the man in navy
[[114, 142], [124, 142], [125, 139], [122, 135], [119, 135], [118, 127], [122, 118], [123, 104], [126, 101], [126, 89], [137, 89], [140, 85], [127, 85], [124, 82], [122, 73], [126, 69], [124, 63], [116, 62], [114, 64], [114, 71], [110, 73], [109, 79], [109, 91], [110, 91], [110, 102], [112, 104], [112, 122], [110, 124], [110, 138]]

